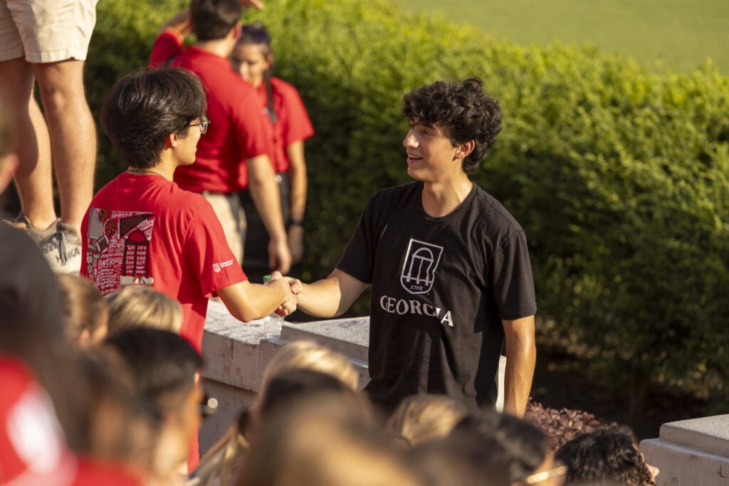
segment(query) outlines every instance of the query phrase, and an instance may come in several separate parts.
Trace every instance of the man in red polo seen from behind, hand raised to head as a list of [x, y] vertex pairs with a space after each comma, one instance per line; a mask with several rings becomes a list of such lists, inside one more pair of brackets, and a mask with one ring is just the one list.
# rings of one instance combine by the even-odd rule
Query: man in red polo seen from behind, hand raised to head
[[[231, 71], [228, 61], [240, 35], [241, 9], [240, 0], [192, 0], [189, 10], [163, 26], [152, 47], [149, 65], [190, 69], [207, 88], [210, 131], [200, 140], [195, 165], [175, 173], [176, 183], [208, 199], [233, 253], [241, 259], [243, 216], [236, 192], [241, 189], [240, 162], [246, 160], [252, 197], [270, 235], [268, 265], [287, 273], [291, 253], [270, 164], [270, 125], [259, 109], [256, 93]], [[184, 48], [184, 35], [193, 28], [197, 41]]]

